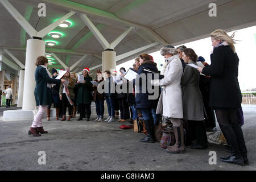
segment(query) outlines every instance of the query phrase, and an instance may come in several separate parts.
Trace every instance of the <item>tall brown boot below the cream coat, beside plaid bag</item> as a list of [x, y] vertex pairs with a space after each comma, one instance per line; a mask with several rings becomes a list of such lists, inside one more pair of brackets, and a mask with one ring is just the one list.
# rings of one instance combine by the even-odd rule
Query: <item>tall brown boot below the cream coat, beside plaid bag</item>
[[166, 152], [171, 154], [183, 154], [185, 152], [183, 126], [180, 125], [180, 127], [174, 127], [174, 133], [176, 142], [174, 146], [168, 146]]

